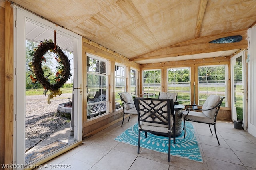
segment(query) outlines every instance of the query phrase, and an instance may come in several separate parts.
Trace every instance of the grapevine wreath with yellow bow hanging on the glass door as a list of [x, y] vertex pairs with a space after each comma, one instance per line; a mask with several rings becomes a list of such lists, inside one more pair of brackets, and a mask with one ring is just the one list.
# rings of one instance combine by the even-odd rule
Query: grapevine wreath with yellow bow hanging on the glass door
[[[58, 65], [58, 71], [56, 73], [56, 78], [54, 84], [50, 83], [47, 77], [44, 75], [44, 71], [42, 69], [42, 61], [45, 61], [44, 55], [50, 51], [53, 53], [54, 58], [56, 59]], [[66, 81], [68, 81], [70, 74], [70, 61], [68, 57], [63, 53], [59, 46], [52, 42], [52, 40], [45, 40], [44, 42], [38, 45], [33, 57], [33, 72], [36, 75], [37, 80], [44, 87], [44, 95], [46, 95], [47, 91], [50, 90], [50, 94], [48, 95], [48, 104], [51, 104], [50, 99], [56, 97], [57, 95], [61, 95], [62, 91], [60, 91], [60, 87], [62, 87]]]

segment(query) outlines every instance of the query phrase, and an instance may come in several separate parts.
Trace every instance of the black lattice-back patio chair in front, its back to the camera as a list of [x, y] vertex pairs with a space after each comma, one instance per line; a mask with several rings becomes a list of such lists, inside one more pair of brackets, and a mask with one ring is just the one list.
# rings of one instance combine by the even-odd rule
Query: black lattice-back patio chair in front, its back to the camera
[[173, 99], [134, 98], [138, 112], [138, 154], [140, 154], [140, 133], [147, 132], [168, 136], [168, 162], [170, 162], [171, 133], [175, 140], [175, 113]]

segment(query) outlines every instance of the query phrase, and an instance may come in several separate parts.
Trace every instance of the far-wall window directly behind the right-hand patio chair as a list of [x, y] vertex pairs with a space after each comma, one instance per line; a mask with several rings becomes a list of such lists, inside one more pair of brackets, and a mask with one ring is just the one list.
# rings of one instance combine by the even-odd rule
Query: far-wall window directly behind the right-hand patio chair
[[[198, 67], [198, 99], [199, 105], [204, 104], [208, 95], [226, 96], [226, 65]], [[222, 106], [225, 106], [225, 101]]]

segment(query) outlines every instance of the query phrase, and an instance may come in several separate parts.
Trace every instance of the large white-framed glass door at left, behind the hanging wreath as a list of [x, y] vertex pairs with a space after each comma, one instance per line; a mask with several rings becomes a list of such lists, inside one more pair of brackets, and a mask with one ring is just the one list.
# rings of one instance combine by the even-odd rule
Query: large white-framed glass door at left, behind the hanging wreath
[[[16, 167], [17, 169], [35, 168], [33, 165], [42, 164], [82, 143], [82, 91], [80, 89], [82, 86], [82, 75], [78, 76], [78, 72], [82, 72], [82, 40], [81, 36], [56, 26], [19, 7], [14, 8], [14, 23], [16, 23], [14, 24], [16, 25], [14, 27], [14, 162], [16, 165], [20, 165]], [[45, 39], [49, 40], [52, 36], [54, 40], [54, 32], [57, 32], [55, 34], [57, 37], [56, 44], [67, 56], [70, 55], [68, 56], [69, 60], [71, 60], [72, 56], [72, 61], [70, 62], [70, 65], [72, 65], [72, 70], [70, 71], [72, 72], [72, 79], [70, 80], [72, 86], [66, 94], [63, 93], [55, 97], [56, 99], [58, 98], [57, 101], [51, 100], [51, 103], [55, 102], [57, 105], [50, 105], [50, 109], [41, 109], [39, 111], [38, 107], [40, 105], [49, 106], [47, 103], [49, 92], [46, 95], [43, 95], [43, 93], [37, 95], [37, 97], [29, 96], [30, 100], [27, 98], [27, 77], [30, 77], [28, 74], [28, 55], [31, 53], [31, 51], [28, 52], [27, 44], [30, 42], [31, 47]], [[67, 46], [69, 45], [68, 47], [63, 45], [65, 41], [69, 42], [66, 43]], [[57, 55], [53, 56], [58, 58]], [[45, 66], [48, 66], [48, 69], [50, 67], [56, 68], [53, 65], [54, 63], [49, 63]], [[55, 72], [54, 76], [56, 76]], [[33, 85], [35, 85], [34, 82]], [[35, 103], [36, 98], [38, 100]], [[50, 125], [54, 125], [56, 121], [59, 121], [58, 119], [62, 119], [62, 117], [56, 116], [58, 115], [58, 109], [60, 109], [59, 106], [63, 103], [70, 103], [70, 101], [72, 101], [72, 107], [66, 109], [65, 112], [59, 112], [59, 115], [64, 113], [64, 116], [68, 117], [67, 121], [64, 121], [63, 127], [61, 126], [61, 128], [58, 127], [54, 130], [49, 129]], [[33, 102], [34, 104], [32, 104]], [[68, 106], [65, 105], [67, 108]], [[69, 116], [68, 113], [70, 113]], [[43, 117], [46, 119], [42, 121]], [[37, 127], [32, 127], [33, 123], [31, 122], [33, 121], [37, 123]], [[38, 123], [39, 121], [40, 123]], [[34, 136], [31, 136], [31, 132], [27, 132], [27, 128], [35, 129], [33, 132]], [[45, 137], [44, 134], [42, 134], [43, 137], [38, 136], [43, 130], [50, 131], [54, 135], [51, 136], [48, 133], [50, 136]], [[60, 132], [60, 130], [62, 131]], [[66, 132], [67, 136], [64, 136], [63, 132]], [[28, 145], [27, 142], [30, 139], [36, 143]]]

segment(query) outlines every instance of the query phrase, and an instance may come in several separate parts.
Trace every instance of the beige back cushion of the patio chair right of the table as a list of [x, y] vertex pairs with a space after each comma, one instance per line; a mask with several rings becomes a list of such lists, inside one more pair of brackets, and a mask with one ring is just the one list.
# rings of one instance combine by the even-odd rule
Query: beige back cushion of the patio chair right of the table
[[[219, 102], [220, 102], [220, 96], [210, 95], [204, 102], [202, 109], [211, 109], [214, 106], [216, 106]], [[214, 119], [214, 115], [216, 114], [216, 111], [217, 111], [217, 108], [209, 111], [203, 111], [203, 113], [207, 117]]]

